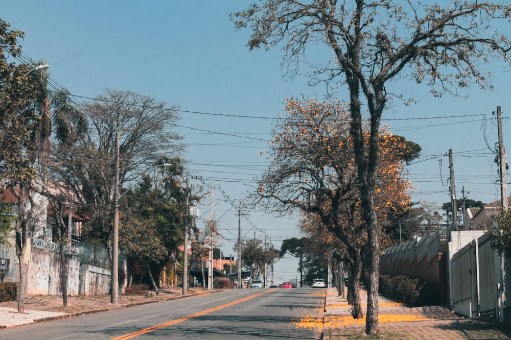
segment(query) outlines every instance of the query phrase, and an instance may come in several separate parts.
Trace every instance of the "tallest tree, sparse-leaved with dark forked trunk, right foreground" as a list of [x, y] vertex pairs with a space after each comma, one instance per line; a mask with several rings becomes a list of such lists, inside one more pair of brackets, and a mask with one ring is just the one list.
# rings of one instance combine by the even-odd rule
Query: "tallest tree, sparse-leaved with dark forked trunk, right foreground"
[[[331, 51], [326, 63], [311, 64], [311, 80], [324, 82], [331, 92], [345, 87], [349, 95], [350, 132], [370, 244], [367, 334], [379, 332], [379, 225], [374, 196], [380, 119], [392, 98], [413, 101], [387, 92], [387, 85], [412, 79], [426, 83], [435, 96], [457, 94], [472, 83], [490, 87], [483, 67], [492, 58], [509, 61], [511, 43], [495, 30], [495, 23], [507, 22], [510, 13], [511, 6], [503, 1], [423, 5], [409, 0], [264, 0], [231, 15], [236, 28], [251, 27], [250, 49], [283, 43], [290, 75], [307, 62], [306, 47], [322, 43]], [[366, 111], [368, 135], [363, 133]]]

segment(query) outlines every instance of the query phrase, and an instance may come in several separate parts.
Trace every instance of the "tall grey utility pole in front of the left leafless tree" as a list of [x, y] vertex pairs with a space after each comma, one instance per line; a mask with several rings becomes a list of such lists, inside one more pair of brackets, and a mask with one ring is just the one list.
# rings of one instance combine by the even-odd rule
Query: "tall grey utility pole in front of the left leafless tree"
[[112, 245], [112, 292], [110, 302], [117, 303], [119, 292], [119, 139], [115, 141], [115, 180], [113, 183], [113, 245]]

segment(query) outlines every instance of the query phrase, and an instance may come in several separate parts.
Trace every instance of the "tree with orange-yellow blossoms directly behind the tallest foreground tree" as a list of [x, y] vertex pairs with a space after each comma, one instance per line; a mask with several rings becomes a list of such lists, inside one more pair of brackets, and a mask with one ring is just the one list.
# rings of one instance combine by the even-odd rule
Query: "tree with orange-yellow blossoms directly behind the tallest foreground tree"
[[[362, 318], [358, 287], [367, 223], [361, 208], [350, 117], [344, 108], [339, 102], [289, 99], [281, 123], [272, 131], [272, 164], [259, 179], [254, 197], [266, 210], [281, 214], [302, 211], [345, 245], [351, 261], [350, 285], [357, 294], [353, 316]], [[384, 221], [392, 212], [408, 207], [410, 183], [403, 178], [406, 143], [384, 129], [379, 136], [375, 206], [378, 219]]]

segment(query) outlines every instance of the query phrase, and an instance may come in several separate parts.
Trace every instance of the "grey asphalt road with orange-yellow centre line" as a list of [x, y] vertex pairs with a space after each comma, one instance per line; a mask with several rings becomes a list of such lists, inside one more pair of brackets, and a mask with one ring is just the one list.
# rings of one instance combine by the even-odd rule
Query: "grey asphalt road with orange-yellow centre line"
[[230, 289], [83, 317], [0, 330], [1, 339], [319, 339], [296, 328], [316, 316], [311, 288]]

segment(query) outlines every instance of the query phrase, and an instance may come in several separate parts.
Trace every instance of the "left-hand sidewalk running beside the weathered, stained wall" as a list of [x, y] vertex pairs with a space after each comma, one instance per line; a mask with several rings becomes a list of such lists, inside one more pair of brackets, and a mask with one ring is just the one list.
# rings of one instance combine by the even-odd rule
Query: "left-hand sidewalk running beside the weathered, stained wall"
[[68, 297], [67, 307], [63, 306], [62, 297], [58, 296], [33, 296], [25, 298], [25, 313], [17, 312], [17, 302], [0, 303], [0, 336], [2, 328], [29, 325], [33, 323], [78, 317], [80, 315], [98, 313], [102, 311], [126, 308], [136, 305], [155, 303], [180, 299], [191, 295], [210, 293], [200, 290], [189, 290], [188, 295], [181, 294], [181, 288], [160, 289], [160, 295], [149, 291], [144, 295], [123, 295], [119, 297], [117, 304], [110, 303], [110, 296]]

